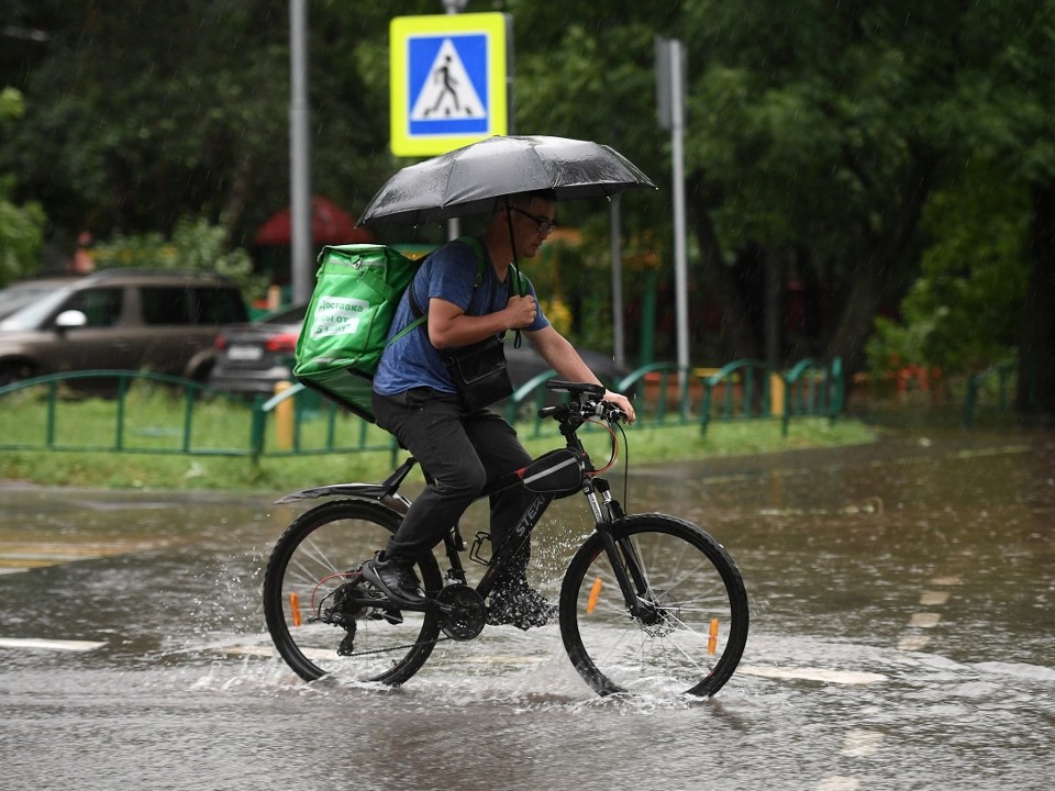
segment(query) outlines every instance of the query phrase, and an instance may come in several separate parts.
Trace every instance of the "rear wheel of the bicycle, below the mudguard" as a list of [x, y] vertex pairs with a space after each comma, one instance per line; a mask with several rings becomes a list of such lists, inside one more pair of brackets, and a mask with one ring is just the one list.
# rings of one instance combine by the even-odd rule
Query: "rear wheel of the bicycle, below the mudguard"
[[[306, 681], [329, 676], [395, 687], [432, 654], [440, 636], [434, 614], [400, 613], [396, 622], [385, 608], [348, 603], [369, 590], [357, 573], [359, 564], [385, 546], [399, 523], [398, 514], [378, 503], [336, 500], [302, 513], [275, 544], [264, 575], [264, 617], [279, 655]], [[417, 569], [426, 591], [443, 587], [431, 554]], [[342, 620], [354, 623], [348, 643]]]

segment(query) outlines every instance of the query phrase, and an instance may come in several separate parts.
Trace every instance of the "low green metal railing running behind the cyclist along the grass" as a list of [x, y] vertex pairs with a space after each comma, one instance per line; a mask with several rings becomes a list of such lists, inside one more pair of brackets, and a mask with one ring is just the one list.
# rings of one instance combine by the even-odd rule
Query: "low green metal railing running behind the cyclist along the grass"
[[[556, 434], [538, 408], [557, 398], [544, 371], [506, 402], [506, 416], [523, 436]], [[774, 382], [782, 403], [774, 408]], [[87, 400], [85, 388], [106, 385], [106, 399]], [[637, 426], [781, 417], [785, 435], [798, 416], [834, 420], [843, 408], [842, 367], [803, 360], [787, 375], [757, 360], [719, 369], [684, 370], [673, 363], [640, 368], [612, 389], [635, 396]], [[75, 409], [74, 404], [81, 404]], [[244, 441], [237, 441], [242, 436]], [[271, 398], [247, 401], [201, 382], [162, 374], [95, 370], [55, 374], [0, 387], [0, 449], [88, 450], [203, 456], [303, 456], [388, 452], [395, 438], [321, 398], [290, 385]]]

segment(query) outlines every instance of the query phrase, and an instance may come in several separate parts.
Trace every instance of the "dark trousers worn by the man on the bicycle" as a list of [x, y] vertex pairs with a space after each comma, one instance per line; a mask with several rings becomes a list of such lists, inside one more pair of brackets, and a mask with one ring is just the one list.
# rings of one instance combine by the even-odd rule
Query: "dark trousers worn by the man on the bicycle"
[[[374, 415], [431, 478], [389, 538], [385, 548], [388, 557], [412, 558], [431, 550], [489, 481], [531, 461], [509, 423], [490, 410], [467, 413], [457, 396], [431, 388], [414, 388], [398, 396], [374, 393]], [[493, 550], [502, 545], [532, 500], [523, 486], [491, 495]], [[526, 566], [526, 553], [519, 559]]]

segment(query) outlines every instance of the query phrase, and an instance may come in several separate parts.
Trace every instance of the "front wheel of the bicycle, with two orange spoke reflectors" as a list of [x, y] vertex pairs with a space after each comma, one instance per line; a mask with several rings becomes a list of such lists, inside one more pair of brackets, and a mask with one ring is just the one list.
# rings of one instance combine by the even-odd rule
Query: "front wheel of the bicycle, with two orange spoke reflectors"
[[663, 514], [609, 530], [614, 558], [595, 533], [560, 589], [560, 633], [576, 670], [602, 695], [714, 694], [747, 643], [747, 592], [732, 558], [699, 527]]

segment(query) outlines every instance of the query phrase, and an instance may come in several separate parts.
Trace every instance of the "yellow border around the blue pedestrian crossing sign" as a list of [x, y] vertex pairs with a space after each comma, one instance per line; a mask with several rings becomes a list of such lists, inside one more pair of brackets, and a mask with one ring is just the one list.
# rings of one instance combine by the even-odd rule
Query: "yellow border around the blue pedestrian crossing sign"
[[[506, 31], [503, 13], [426, 14], [395, 16], [389, 24], [389, 114], [391, 149], [396, 156], [434, 156], [469, 143], [507, 134], [509, 129]], [[471, 135], [411, 135], [413, 97], [408, 85], [407, 47], [411, 36], [482, 33], [487, 36], [487, 131]]]

